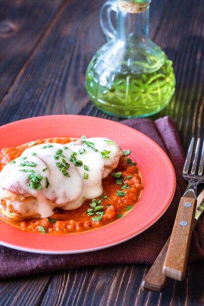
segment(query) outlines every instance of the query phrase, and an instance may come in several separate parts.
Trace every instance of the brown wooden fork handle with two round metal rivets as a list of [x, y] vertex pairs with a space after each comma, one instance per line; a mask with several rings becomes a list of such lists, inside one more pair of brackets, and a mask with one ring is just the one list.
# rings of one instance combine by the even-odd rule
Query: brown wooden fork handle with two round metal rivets
[[164, 275], [178, 281], [185, 277], [196, 203], [195, 198], [181, 198], [163, 264]]

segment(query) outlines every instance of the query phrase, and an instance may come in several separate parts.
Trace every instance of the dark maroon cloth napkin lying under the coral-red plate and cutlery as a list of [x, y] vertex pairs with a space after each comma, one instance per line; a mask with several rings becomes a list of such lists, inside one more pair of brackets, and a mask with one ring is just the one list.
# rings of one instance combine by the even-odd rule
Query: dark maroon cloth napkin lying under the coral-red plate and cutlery
[[[182, 178], [184, 152], [174, 122], [164, 117], [152, 122], [148, 118], [122, 121], [157, 142], [170, 157], [174, 166], [177, 186], [174, 198], [154, 225], [139, 236], [108, 249], [74, 255], [44, 255], [13, 250], [0, 246], [0, 278], [29, 275], [44, 271], [77, 268], [114, 263], [152, 264], [171, 234], [180, 197], [186, 188]], [[193, 231], [189, 262], [204, 258], [204, 240], [199, 220]]]

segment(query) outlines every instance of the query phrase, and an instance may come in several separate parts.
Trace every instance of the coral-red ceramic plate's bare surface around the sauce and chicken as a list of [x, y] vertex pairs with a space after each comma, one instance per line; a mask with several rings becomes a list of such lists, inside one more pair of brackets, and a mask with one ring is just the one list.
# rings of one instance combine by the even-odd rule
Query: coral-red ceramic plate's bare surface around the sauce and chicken
[[176, 178], [168, 156], [143, 133], [120, 123], [89, 116], [52, 115], [23, 119], [0, 127], [0, 149], [54, 136], [108, 137], [131, 150], [143, 178], [138, 203], [124, 217], [102, 228], [77, 234], [50, 235], [22, 231], [0, 220], [0, 244], [14, 249], [74, 254], [100, 250], [129, 240], [155, 223], [168, 208]]

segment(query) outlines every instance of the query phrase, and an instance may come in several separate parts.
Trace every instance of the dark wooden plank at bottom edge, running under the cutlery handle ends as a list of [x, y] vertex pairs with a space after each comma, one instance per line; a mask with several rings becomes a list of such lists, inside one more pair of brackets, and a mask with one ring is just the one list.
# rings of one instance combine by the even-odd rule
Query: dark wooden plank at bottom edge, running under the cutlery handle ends
[[[100, 266], [58, 272], [41, 306], [202, 306], [204, 261], [190, 264], [183, 282], [169, 280], [163, 293], [141, 289], [144, 265]], [[61, 290], [59, 290], [61, 288]]]

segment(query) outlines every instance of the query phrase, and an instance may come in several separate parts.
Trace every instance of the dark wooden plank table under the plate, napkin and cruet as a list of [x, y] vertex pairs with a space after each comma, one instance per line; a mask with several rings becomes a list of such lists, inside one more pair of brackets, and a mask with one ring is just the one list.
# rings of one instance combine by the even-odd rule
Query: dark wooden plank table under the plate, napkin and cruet
[[[45, 114], [110, 117], [89, 102], [86, 67], [105, 43], [99, 24], [103, 0], [0, 0], [0, 124]], [[170, 115], [186, 151], [204, 137], [203, 0], [153, 0], [150, 38], [174, 63], [172, 102], [153, 119]], [[200, 306], [204, 261], [188, 265], [183, 282], [163, 293], [143, 292], [149, 266], [110, 265], [0, 281], [0, 305]]]

